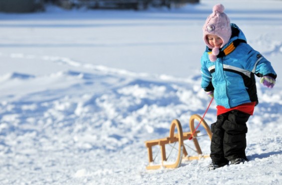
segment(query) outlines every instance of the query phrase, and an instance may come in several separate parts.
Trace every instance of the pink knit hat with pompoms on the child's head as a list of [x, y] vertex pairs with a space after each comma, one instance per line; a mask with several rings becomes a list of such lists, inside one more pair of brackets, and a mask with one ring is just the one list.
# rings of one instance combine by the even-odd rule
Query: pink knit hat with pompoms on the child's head
[[203, 26], [203, 39], [207, 46], [212, 49], [212, 54], [209, 55], [209, 58], [212, 62], [216, 61], [216, 56], [219, 54], [219, 48], [214, 48], [208, 43], [207, 35], [210, 34], [219, 36], [223, 41], [222, 45], [220, 46], [220, 48], [222, 48], [228, 43], [232, 34], [230, 20], [223, 11], [224, 6], [222, 4], [214, 5], [212, 14], [208, 16]]

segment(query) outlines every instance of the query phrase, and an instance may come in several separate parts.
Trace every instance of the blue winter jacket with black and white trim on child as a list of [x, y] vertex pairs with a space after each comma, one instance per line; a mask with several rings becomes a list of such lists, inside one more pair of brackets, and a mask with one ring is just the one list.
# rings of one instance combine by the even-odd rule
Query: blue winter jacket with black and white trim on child
[[247, 44], [236, 24], [231, 24], [231, 28], [231, 39], [215, 62], [209, 60], [211, 50], [206, 48], [201, 58], [201, 86], [205, 91], [214, 91], [216, 104], [225, 108], [249, 102], [258, 104], [255, 74], [276, 78], [276, 72], [267, 59]]

